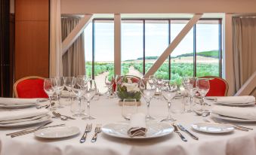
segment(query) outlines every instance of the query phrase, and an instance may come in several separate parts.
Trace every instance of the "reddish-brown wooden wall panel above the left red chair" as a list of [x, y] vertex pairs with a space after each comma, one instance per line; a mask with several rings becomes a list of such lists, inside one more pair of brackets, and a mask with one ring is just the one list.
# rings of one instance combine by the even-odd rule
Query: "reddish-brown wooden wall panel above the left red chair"
[[49, 76], [49, 0], [15, 1], [14, 74]]

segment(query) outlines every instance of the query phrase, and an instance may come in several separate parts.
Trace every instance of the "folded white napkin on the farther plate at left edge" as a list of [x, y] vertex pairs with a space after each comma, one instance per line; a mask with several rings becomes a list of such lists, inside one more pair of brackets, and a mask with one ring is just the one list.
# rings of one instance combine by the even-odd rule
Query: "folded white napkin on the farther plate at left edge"
[[16, 99], [16, 98], [0, 98], [1, 105], [26, 105], [26, 104], [34, 104], [38, 102], [38, 99]]

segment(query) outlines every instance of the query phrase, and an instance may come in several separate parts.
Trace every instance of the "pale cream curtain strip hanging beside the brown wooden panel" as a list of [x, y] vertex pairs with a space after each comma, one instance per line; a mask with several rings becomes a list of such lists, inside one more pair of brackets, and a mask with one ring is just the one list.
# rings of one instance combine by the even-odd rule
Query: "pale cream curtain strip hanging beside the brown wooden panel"
[[60, 0], [50, 5], [50, 78], [63, 76]]

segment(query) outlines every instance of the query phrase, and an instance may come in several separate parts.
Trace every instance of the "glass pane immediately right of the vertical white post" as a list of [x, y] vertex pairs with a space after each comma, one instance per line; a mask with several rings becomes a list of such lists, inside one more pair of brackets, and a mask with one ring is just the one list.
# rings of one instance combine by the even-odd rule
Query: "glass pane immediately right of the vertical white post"
[[143, 76], [143, 22], [122, 20], [122, 74]]

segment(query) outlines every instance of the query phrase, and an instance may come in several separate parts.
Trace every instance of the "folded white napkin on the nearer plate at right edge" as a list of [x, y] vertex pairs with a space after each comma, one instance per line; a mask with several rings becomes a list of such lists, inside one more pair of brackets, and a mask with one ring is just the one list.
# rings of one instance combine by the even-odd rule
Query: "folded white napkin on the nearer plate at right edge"
[[236, 117], [247, 120], [256, 120], [256, 108], [239, 108], [215, 105], [211, 112], [227, 117]]

